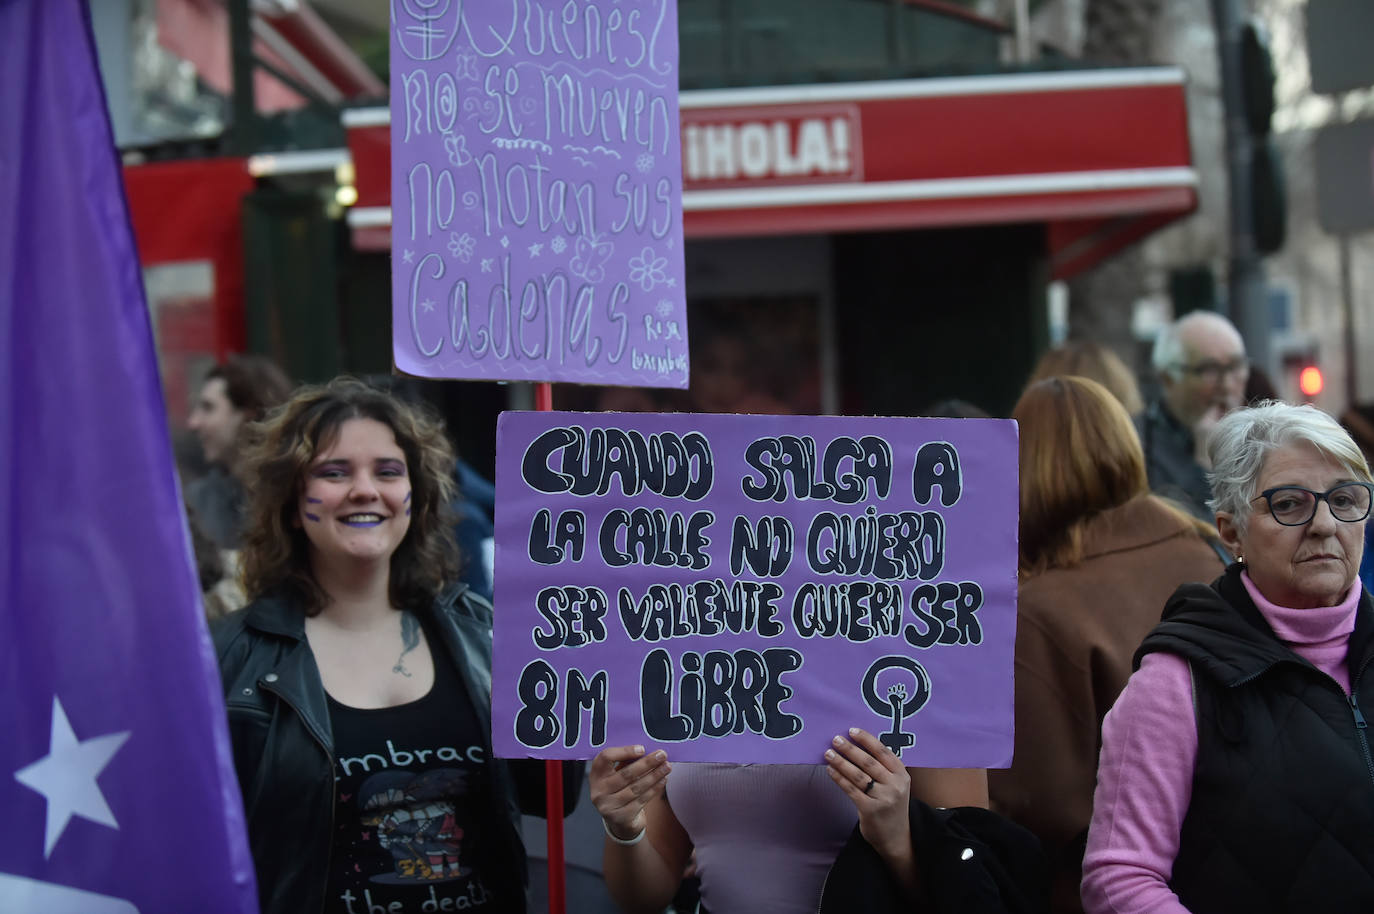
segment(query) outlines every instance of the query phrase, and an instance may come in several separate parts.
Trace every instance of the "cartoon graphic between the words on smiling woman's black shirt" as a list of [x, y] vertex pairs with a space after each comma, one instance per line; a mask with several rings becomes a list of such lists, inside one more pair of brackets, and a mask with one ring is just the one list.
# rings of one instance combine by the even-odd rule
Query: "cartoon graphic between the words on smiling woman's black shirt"
[[455, 768], [382, 771], [364, 781], [357, 797], [361, 825], [396, 865], [372, 881], [440, 882], [471, 873], [471, 866], [462, 866], [464, 830], [458, 823], [458, 803], [466, 794], [467, 775]]

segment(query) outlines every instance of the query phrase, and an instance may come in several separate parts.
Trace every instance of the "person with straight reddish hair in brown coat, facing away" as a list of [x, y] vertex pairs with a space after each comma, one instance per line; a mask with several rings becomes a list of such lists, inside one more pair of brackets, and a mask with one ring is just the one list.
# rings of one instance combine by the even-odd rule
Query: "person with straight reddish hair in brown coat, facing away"
[[[1080, 913], [1102, 719], [1173, 590], [1223, 570], [1215, 537], [1150, 495], [1131, 416], [1095, 381], [1026, 388], [1021, 425], [1015, 755], [988, 771], [996, 811], [1033, 832], [1052, 910]], [[1213, 542], [1216, 542], [1213, 539]]]

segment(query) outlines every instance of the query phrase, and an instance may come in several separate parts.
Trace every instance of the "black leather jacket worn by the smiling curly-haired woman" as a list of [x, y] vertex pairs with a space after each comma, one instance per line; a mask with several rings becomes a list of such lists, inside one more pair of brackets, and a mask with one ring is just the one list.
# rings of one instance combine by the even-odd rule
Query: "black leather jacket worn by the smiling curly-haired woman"
[[[544, 814], [544, 763], [491, 755], [492, 605], [459, 584], [429, 612], [488, 734], [491, 801], [507, 826], [492, 859], [510, 860], [511, 878], [523, 887], [519, 814]], [[216, 623], [213, 635], [262, 914], [320, 911], [334, 830], [334, 741], [305, 614], [262, 598]], [[577, 801], [581, 766], [565, 763], [563, 781], [566, 815]]]

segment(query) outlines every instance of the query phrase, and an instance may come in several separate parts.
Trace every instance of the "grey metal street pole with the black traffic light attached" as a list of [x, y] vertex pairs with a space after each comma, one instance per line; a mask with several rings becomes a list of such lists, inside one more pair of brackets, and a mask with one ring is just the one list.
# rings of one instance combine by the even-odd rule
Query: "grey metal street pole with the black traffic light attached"
[[1241, 74], [1241, 0], [1212, 0], [1216, 49], [1221, 73], [1221, 106], [1226, 117], [1227, 187], [1230, 191], [1230, 261], [1227, 306], [1231, 322], [1245, 339], [1250, 360], [1274, 372], [1264, 265], [1254, 249], [1254, 209], [1250, 198], [1253, 139], [1245, 117]]

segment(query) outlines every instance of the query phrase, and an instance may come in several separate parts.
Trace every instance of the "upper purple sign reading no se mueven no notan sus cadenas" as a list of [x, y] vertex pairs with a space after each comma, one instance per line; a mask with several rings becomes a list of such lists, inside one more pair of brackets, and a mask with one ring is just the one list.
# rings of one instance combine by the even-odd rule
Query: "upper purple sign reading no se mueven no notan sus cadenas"
[[686, 388], [676, 0], [392, 0], [392, 339], [430, 378]]

